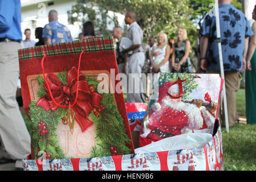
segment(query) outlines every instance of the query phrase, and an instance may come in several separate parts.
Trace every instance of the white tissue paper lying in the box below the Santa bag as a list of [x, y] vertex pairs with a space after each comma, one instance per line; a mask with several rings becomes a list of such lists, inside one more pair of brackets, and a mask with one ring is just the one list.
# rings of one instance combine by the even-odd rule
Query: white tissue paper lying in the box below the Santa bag
[[152, 142], [144, 147], [136, 148], [135, 154], [201, 148], [204, 147], [211, 139], [212, 135], [208, 133], [187, 133], [177, 135], [175, 137], [164, 138], [157, 142]]

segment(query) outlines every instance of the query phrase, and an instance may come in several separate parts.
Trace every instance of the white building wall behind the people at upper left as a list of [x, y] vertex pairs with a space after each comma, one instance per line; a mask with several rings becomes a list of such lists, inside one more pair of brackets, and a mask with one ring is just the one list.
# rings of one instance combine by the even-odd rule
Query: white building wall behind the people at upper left
[[[48, 6], [49, 2], [53, 2], [54, 5]], [[69, 10], [72, 10], [72, 5], [75, 5], [75, 0], [21, 0], [22, 5], [22, 23], [21, 29], [24, 33], [26, 28], [31, 30], [31, 38], [35, 39], [35, 28], [44, 27], [48, 22], [48, 13], [50, 10], [56, 10], [59, 14], [59, 22], [64, 24], [71, 31], [73, 39], [76, 39], [80, 32], [82, 32], [82, 24], [75, 22], [74, 24], [68, 24], [68, 14]], [[96, 7], [97, 9], [97, 7]], [[114, 13], [109, 11], [109, 15], [118, 16], [118, 23], [121, 27], [125, 27], [125, 15]], [[101, 18], [97, 16], [97, 18]], [[107, 24], [107, 30], [112, 31], [114, 23]], [[97, 31], [97, 30], [96, 30]], [[23, 34], [23, 39], [25, 35]], [[36, 40], [38, 41], [38, 40]]]

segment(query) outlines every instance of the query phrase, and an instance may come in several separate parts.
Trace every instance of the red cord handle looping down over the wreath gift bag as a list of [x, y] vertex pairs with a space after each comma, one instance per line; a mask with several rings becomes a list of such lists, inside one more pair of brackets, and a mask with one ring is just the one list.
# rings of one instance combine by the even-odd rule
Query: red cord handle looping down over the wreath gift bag
[[82, 51], [82, 52], [80, 53], [80, 55], [79, 55], [79, 65], [78, 65], [78, 71], [77, 71], [76, 98], [75, 98], [74, 103], [73, 103], [72, 105], [70, 105], [70, 103], [69, 103], [68, 106], [60, 105], [60, 104], [57, 103], [57, 102], [55, 101], [55, 99], [53, 98], [53, 96], [52, 96], [52, 91], [51, 91], [51, 89], [49, 88], [49, 84], [48, 84], [48, 81], [47, 81], [47, 79], [46, 79], [46, 74], [44, 73], [44, 59], [46, 59], [46, 55], [44, 55], [43, 58], [42, 58], [41, 67], [42, 67], [42, 70], [43, 70], [44, 81], [46, 82], [46, 86], [47, 86], [47, 88], [48, 88], [48, 90], [49, 90], [49, 94], [50, 94], [50, 96], [51, 96], [52, 101], [54, 102], [54, 104], [56, 104], [56, 105], [59, 106], [59, 107], [62, 107], [62, 108], [69, 108], [69, 107], [75, 106], [75, 104], [76, 104], [77, 96], [78, 96], [78, 90], [79, 90], [79, 71], [80, 71], [80, 63], [81, 63], [82, 53], [84, 53], [84, 51]]

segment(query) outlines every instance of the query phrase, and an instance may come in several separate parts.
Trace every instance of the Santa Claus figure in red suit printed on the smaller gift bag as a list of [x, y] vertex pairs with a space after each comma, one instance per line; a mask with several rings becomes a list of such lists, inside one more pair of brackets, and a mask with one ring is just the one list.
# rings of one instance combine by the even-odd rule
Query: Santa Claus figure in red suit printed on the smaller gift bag
[[144, 121], [148, 127], [144, 127], [140, 147], [175, 135], [213, 129], [215, 117], [207, 107], [181, 101], [184, 81], [178, 78], [159, 87], [159, 98]]

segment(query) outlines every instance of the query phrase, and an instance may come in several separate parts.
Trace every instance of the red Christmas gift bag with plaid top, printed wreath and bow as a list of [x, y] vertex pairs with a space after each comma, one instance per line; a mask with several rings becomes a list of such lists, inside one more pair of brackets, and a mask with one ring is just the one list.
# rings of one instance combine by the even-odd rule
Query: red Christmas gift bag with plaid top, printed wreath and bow
[[104, 92], [120, 82], [110, 78], [118, 74], [112, 38], [20, 49], [19, 68], [32, 159], [134, 153], [123, 94]]

